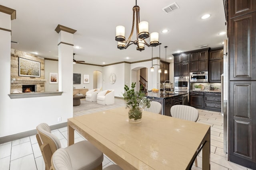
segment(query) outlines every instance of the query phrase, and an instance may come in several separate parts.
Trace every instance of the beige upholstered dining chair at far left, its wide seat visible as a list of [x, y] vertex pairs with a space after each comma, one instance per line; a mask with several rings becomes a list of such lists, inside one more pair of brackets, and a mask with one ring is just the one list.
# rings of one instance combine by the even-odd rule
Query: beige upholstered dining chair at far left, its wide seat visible
[[[46, 123], [36, 127], [36, 139], [44, 158], [46, 170], [50, 170], [52, 154], [61, 148], [59, 139], [51, 133]], [[80, 141], [64, 150], [73, 162], [72, 170], [102, 170], [103, 153], [88, 141]]]

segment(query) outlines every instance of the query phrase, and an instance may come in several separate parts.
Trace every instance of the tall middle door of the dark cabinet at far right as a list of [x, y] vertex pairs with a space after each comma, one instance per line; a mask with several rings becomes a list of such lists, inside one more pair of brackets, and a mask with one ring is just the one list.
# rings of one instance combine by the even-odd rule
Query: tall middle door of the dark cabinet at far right
[[230, 80], [256, 80], [256, 12], [231, 19], [229, 29]]

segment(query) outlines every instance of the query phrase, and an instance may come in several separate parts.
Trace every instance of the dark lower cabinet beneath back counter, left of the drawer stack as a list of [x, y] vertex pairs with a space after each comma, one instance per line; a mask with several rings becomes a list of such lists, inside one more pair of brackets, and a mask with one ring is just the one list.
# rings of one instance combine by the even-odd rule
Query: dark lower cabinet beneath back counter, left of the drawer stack
[[204, 108], [204, 92], [190, 92], [190, 106]]

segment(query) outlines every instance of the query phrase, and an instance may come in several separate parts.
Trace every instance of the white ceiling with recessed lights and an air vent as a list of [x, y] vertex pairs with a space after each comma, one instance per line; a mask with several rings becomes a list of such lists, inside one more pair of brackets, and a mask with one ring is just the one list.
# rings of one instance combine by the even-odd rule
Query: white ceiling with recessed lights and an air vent
[[[176, 2], [180, 9], [164, 13], [162, 8]], [[140, 52], [135, 45], [117, 49], [116, 26], [132, 27], [132, 7], [135, 0], [0, 0], [0, 4], [16, 10], [12, 20], [12, 48], [37, 52], [44, 58], [58, 59], [58, 24], [77, 30], [74, 33], [75, 59], [90, 64], [111, 64], [140, 61], [152, 57], [152, 47]], [[140, 21], [148, 21], [149, 32], [158, 32], [162, 43], [160, 57], [165, 61], [176, 51], [200, 49], [200, 45], [220, 47], [226, 35], [222, 0], [138, 0]], [[201, 16], [210, 14], [202, 20]], [[161, 33], [168, 29], [168, 33]], [[135, 37], [133, 38], [135, 39]], [[149, 41], [150, 38], [148, 38]], [[51, 52], [50, 52], [51, 51]], [[129, 57], [129, 59], [126, 59]], [[153, 57], [159, 57], [159, 46], [153, 47]]]

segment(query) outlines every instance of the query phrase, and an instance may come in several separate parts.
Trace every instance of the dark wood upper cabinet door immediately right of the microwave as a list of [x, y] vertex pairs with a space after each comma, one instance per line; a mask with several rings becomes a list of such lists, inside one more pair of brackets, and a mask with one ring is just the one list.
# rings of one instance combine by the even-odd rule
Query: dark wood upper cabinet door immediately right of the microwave
[[223, 73], [223, 59], [209, 61], [209, 82], [221, 82], [221, 74]]

